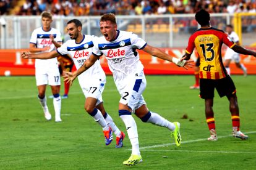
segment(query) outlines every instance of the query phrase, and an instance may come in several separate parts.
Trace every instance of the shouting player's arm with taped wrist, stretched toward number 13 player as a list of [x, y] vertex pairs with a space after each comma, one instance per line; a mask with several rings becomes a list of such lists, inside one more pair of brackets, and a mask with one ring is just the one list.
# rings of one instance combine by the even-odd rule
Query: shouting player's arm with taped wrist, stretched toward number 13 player
[[143, 51], [147, 52], [150, 55], [153, 55], [155, 57], [158, 57], [163, 60], [167, 60], [169, 62], [175, 63], [179, 67], [184, 67], [185, 69], [188, 69], [189, 67], [192, 67], [194, 64], [193, 61], [186, 61], [186, 60], [180, 60], [175, 57], [171, 57], [171, 55], [166, 54], [165, 52], [161, 51], [160, 49], [147, 45]]

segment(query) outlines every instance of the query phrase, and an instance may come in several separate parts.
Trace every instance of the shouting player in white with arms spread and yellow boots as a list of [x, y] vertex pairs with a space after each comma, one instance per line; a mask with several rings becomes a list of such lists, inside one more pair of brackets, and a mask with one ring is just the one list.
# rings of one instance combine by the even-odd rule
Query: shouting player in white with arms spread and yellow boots
[[123, 162], [126, 165], [134, 165], [142, 162], [139, 150], [137, 126], [132, 117], [132, 111], [142, 119], [143, 122], [166, 127], [174, 136], [176, 145], [181, 144], [179, 134], [179, 123], [171, 123], [157, 113], [149, 111], [142, 92], [146, 87], [146, 79], [143, 73], [143, 65], [140, 62], [136, 49], [142, 49], [150, 55], [176, 63], [181, 67], [191, 67], [193, 61], [179, 60], [160, 51], [156, 47], [149, 46], [136, 34], [117, 30], [116, 17], [114, 14], [105, 14], [100, 19], [100, 30], [103, 37], [99, 38], [93, 46], [93, 55], [83, 63], [82, 67], [74, 73], [67, 73], [67, 80], [71, 83], [76, 76], [89, 70], [90, 67], [105, 55], [110, 70], [113, 72], [114, 82], [121, 95], [119, 101], [119, 116], [126, 126], [126, 131], [132, 144], [132, 155]]

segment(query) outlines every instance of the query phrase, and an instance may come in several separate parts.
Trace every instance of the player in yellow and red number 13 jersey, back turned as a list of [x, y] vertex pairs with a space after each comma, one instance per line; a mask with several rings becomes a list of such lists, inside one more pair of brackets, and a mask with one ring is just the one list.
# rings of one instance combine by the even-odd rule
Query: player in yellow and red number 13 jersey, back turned
[[229, 100], [229, 110], [233, 124], [233, 136], [247, 139], [240, 131], [239, 108], [237, 104], [236, 87], [223, 65], [221, 58], [221, 45], [224, 43], [235, 52], [246, 55], [256, 55], [256, 52], [238, 46], [222, 30], [211, 27], [210, 14], [206, 10], [199, 10], [195, 14], [195, 20], [201, 28], [195, 31], [189, 38], [186, 54], [182, 59], [189, 60], [194, 48], [200, 57], [200, 97], [205, 99], [205, 115], [210, 130], [208, 140], [218, 140], [213, 114], [214, 89], [220, 97], [226, 96]]

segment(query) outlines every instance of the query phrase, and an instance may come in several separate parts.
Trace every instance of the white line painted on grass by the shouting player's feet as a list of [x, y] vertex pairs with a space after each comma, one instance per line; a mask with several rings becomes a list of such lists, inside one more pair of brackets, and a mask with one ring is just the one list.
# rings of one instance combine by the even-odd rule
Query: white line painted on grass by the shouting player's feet
[[[252, 131], [252, 132], [245, 132], [244, 134], [255, 134], [256, 131]], [[232, 135], [228, 135], [228, 136], [218, 136], [218, 139], [220, 138], [225, 138], [225, 137], [231, 137]], [[203, 139], [195, 139], [195, 140], [187, 140], [184, 142], [181, 142], [181, 144], [189, 144], [189, 143], [194, 143], [194, 142], [200, 142], [200, 141], [205, 141], [207, 140], [207, 138], [203, 138]], [[147, 150], [149, 148], [160, 148], [160, 147], [168, 147], [170, 145], [176, 145], [175, 143], [171, 143], [171, 144], [161, 144], [161, 145], [151, 145], [151, 146], [147, 146], [147, 147], [140, 147], [140, 150]], [[129, 149], [131, 150], [131, 149]], [[149, 151], [149, 150], [148, 150]], [[182, 151], [182, 150], [181, 150]]]

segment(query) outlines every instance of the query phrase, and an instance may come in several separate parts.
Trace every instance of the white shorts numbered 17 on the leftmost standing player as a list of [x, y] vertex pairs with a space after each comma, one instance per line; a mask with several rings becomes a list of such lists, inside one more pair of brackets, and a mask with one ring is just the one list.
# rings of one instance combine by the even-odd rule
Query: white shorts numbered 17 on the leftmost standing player
[[36, 86], [49, 84], [50, 86], [61, 85], [61, 75], [58, 67], [36, 68]]

